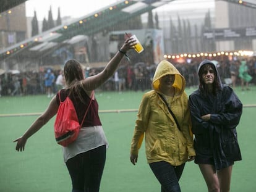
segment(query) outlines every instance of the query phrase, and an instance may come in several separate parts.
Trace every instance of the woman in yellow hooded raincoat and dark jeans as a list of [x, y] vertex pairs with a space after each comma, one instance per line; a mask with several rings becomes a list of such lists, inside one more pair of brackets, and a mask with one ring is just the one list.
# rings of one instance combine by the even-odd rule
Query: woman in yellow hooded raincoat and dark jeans
[[184, 91], [186, 81], [173, 64], [161, 61], [152, 85], [153, 90], [145, 93], [140, 103], [130, 161], [136, 164], [145, 134], [147, 161], [161, 184], [161, 191], [179, 192], [184, 165], [195, 156], [188, 97]]

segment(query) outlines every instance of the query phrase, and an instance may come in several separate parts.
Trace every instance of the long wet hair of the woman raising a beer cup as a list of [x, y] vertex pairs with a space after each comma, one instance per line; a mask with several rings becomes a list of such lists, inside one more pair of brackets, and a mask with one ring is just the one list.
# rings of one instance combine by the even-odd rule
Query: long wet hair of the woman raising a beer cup
[[81, 67], [80, 62], [76, 61], [75, 59], [71, 59], [66, 62], [64, 65], [64, 77], [67, 84], [67, 90], [70, 90], [70, 94], [77, 93], [79, 99], [84, 102], [84, 99], [81, 94], [82, 81], [83, 77], [83, 69]]

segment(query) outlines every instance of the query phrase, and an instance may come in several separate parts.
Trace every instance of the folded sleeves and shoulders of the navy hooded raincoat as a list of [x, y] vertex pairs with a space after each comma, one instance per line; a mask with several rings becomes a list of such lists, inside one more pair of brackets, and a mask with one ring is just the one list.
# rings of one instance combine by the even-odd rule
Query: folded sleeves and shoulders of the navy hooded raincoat
[[[229, 86], [223, 85], [223, 90], [214, 102], [210, 102], [200, 94], [200, 90], [189, 96], [189, 108], [192, 119], [192, 132], [205, 133], [208, 128], [215, 127], [236, 128], [242, 115], [242, 102]], [[210, 121], [202, 120], [202, 115], [211, 114]]]

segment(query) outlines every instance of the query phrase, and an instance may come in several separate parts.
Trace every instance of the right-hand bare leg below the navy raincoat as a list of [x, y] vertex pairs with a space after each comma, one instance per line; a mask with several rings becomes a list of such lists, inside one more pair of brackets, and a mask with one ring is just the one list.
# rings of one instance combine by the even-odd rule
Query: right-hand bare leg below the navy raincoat
[[232, 168], [233, 168], [233, 165], [227, 168], [221, 169], [217, 172], [219, 182], [220, 182], [220, 192], [230, 191]]

